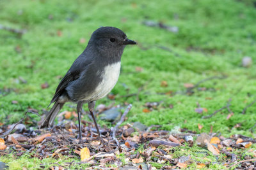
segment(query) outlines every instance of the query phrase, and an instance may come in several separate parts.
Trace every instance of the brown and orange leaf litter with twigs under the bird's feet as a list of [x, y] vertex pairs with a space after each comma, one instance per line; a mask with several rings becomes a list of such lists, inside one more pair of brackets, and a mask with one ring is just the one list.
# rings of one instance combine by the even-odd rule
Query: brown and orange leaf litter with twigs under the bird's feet
[[[100, 111], [111, 110], [111, 107], [104, 107], [102, 106]], [[198, 169], [209, 168], [211, 159], [204, 157], [204, 161], [200, 161], [188, 155], [184, 149], [197, 146], [202, 148], [206, 155], [219, 157], [218, 164], [227, 168], [256, 168], [256, 150], [252, 147], [256, 140], [253, 138], [239, 134], [230, 138], [215, 133], [196, 134], [188, 129], [180, 129], [179, 133], [171, 134], [170, 131], [160, 130], [159, 125], [147, 127], [140, 122], [122, 125], [130, 109], [131, 105], [124, 111], [114, 128], [100, 128], [103, 141], [97, 136], [93, 122], [83, 120], [83, 144], [79, 144], [77, 139], [78, 125], [74, 124], [77, 117], [72, 116], [74, 114], [70, 111], [63, 112], [60, 124], [48, 129], [26, 129], [20, 121], [19, 125], [3, 124], [0, 135], [5, 135], [0, 138], [0, 155], [12, 153], [19, 159], [26, 153], [31, 158], [40, 160], [47, 157], [58, 160], [63, 156], [77, 160], [58, 165], [59, 169], [68, 169], [75, 164], [88, 164], [88, 169], [186, 169], [193, 164]], [[14, 126], [15, 131], [12, 130]], [[200, 124], [198, 128], [200, 129]], [[6, 133], [11, 132], [10, 130], [12, 133]], [[183, 155], [177, 156], [176, 150], [182, 150]], [[250, 154], [244, 156], [239, 150], [247, 150]], [[40, 167], [44, 169], [45, 164]], [[56, 165], [52, 165], [52, 169], [55, 167]]]

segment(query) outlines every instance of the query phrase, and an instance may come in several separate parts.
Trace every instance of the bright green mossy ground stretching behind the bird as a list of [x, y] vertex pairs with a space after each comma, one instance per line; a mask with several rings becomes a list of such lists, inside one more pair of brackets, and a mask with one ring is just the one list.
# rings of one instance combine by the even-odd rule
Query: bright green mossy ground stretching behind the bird
[[[163, 125], [167, 130], [179, 126], [198, 132], [209, 132], [212, 126], [213, 132], [223, 136], [254, 136], [248, 129], [255, 124], [256, 104], [248, 108], [246, 115], [240, 113], [256, 97], [256, 65], [241, 67], [244, 56], [256, 60], [255, 18], [251, 1], [0, 1], [1, 24], [27, 31], [19, 38], [0, 30], [0, 120], [4, 124], [17, 122], [28, 107], [42, 113], [60, 81], [58, 76], [63, 76], [83, 52], [92, 32], [111, 25], [139, 43], [125, 48], [122, 73], [112, 90], [115, 104], [133, 104], [127, 122]], [[179, 32], [148, 27], [141, 24], [144, 20], [175, 25]], [[84, 43], [79, 43], [81, 38]], [[172, 52], [157, 46], [166, 46]], [[135, 67], [143, 67], [143, 71], [136, 72]], [[196, 90], [191, 96], [160, 94], [184, 91], [184, 83], [195, 84], [221, 75], [227, 78], [200, 85], [214, 91]], [[19, 76], [27, 83], [21, 83]], [[136, 96], [120, 97], [127, 94], [127, 88], [129, 93], [137, 93], [151, 78], [140, 92], [140, 101]], [[45, 81], [49, 88], [41, 89]], [[168, 87], [161, 87], [161, 81], [167, 81]], [[10, 94], [2, 96], [4, 89], [11, 89]], [[209, 119], [195, 112], [196, 103], [207, 108], [207, 115], [225, 106], [230, 97], [234, 116], [228, 120], [227, 110]], [[158, 110], [143, 113], [145, 103], [160, 101], [163, 103]], [[100, 103], [113, 101], [105, 97], [97, 101]], [[170, 104], [173, 109], [168, 107]], [[63, 110], [72, 108], [64, 106]], [[35, 116], [35, 120], [39, 119]], [[234, 128], [239, 123], [241, 127]], [[198, 124], [204, 126], [201, 131]], [[1, 157], [4, 160], [7, 158]], [[23, 163], [25, 167], [28, 164]]]

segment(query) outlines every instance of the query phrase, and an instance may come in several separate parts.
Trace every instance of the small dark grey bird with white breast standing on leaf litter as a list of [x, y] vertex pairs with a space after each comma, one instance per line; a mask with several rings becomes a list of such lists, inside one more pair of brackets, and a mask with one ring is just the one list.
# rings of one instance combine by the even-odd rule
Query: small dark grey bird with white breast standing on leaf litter
[[[54, 103], [40, 128], [52, 127], [54, 119], [68, 102], [77, 103], [79, 143], [81, 140], [81, 111], [88, 103], [90, 114], [100, 137], [94, 117], [95, 101], [106, 96], [115, 86], [121, 67], [121, 57], [126, 45], [136, 45], [116, 27], [100, 27], [93, 32], [85, 50], [74, 61], [60, 81], [49, 106]], [[48, 106], [48, 107], [49, 107]]]

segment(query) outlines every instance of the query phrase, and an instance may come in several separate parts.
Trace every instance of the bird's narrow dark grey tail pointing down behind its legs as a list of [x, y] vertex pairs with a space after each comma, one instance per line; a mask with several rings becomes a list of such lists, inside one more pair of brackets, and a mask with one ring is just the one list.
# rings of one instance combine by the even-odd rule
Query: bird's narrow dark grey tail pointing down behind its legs
[[43, 127], [52, 127], [52, 125], [54, 124], [54, 119], [56, 118], [57, 114], [59, 113], [64, 104], [65, 103], [58, 103], [58, 101], [56, 101], [49, 113], [44, 118], [44, 121], [40, 125], [39, 129]]

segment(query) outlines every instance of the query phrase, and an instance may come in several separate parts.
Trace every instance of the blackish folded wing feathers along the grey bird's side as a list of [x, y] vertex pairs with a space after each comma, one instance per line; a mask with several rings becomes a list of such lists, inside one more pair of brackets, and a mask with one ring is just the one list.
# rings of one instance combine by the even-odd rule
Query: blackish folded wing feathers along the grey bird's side
[[77, 80], [79, 78], [80, 73], [81, 69], [69, 70], [67, 72], [67, 74], [60, 81], [49, 106], [58, 100], [58, 97], [61, 96], [63, 90], [65, 90], [69, 82]]

